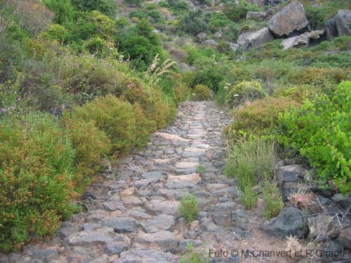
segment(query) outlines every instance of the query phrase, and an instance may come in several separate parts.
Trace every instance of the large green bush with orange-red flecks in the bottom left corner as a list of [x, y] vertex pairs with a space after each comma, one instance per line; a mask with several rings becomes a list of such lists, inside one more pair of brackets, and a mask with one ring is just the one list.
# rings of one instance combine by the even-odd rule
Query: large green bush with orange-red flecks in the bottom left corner
[[52, 235], [72, 215], [74, 149], [43, 114], [0, 123], [0, 249], [18, 250]]

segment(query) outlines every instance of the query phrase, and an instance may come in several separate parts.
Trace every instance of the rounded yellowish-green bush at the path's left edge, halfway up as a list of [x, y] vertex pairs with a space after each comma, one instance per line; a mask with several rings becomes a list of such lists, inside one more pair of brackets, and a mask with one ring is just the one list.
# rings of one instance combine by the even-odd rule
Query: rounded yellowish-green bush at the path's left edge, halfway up
[[134, 147], [143, 146], [153, 131], [143, 114], [135, 114], [129, 102], [114, 95], [96, 97], [84, 106], [76, 107], [74, 116], [95, 121], [95, 125], [110, 138], [115, 154], [128, 154]]

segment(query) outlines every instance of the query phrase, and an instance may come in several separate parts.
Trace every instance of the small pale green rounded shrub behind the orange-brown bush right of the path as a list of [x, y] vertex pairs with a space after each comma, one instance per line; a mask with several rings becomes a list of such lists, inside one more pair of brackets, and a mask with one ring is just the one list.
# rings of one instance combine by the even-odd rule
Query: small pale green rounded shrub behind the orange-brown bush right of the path
[[227, 93], [227, 103], [235, 107], [246, 101], [262, 99], [267, 94], [258, 81], [242, 81], [235, 83]]

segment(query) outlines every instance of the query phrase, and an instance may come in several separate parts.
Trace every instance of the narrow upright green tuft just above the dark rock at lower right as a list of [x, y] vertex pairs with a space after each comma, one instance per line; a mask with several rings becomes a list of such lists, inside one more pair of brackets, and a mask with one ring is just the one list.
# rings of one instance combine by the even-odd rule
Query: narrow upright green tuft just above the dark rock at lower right
[[277, 182], [272, 180], [265, 180], [263, 187], [263, 200], [265, 201], [265, 208], [263, 215], [267, 220], [279, 215], [283, 207], [282, 194]]

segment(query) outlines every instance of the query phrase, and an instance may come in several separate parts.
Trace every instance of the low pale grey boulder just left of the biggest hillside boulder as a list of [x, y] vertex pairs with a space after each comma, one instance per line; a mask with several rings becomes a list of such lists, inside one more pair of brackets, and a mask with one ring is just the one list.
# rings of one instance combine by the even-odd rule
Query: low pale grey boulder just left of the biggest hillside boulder
[[273, 35], [268, 27], [264, 27], [256, 32], [244, 32], [239, 35], [238, 45], [241, 48], [252, 48], [267, 43], [273, 39]]

